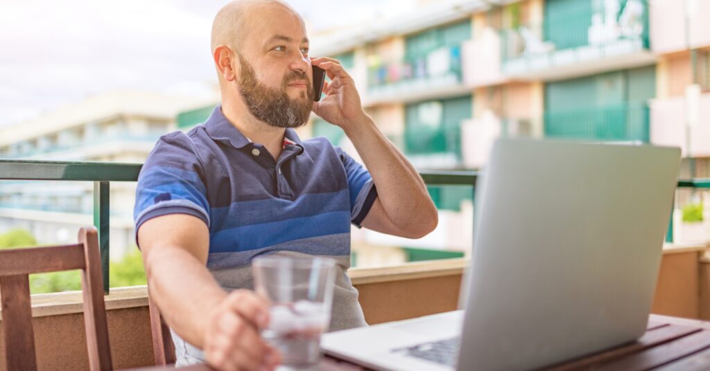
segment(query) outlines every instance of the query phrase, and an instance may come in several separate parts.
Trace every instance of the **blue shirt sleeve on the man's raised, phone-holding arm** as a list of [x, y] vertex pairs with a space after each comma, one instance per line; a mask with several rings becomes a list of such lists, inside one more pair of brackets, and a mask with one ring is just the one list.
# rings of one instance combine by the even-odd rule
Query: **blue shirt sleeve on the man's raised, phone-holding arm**
[[355, 161], [342, 148], [336, 147], [336, 153], [345, 168], [348, 178], [348, 189], [350, 192], [350, 221], [357, 228], [361, 228], [362, 221], [365, 220], [372, 205], [377, 199], [377, 189], [372, 181], [370, 172]]

